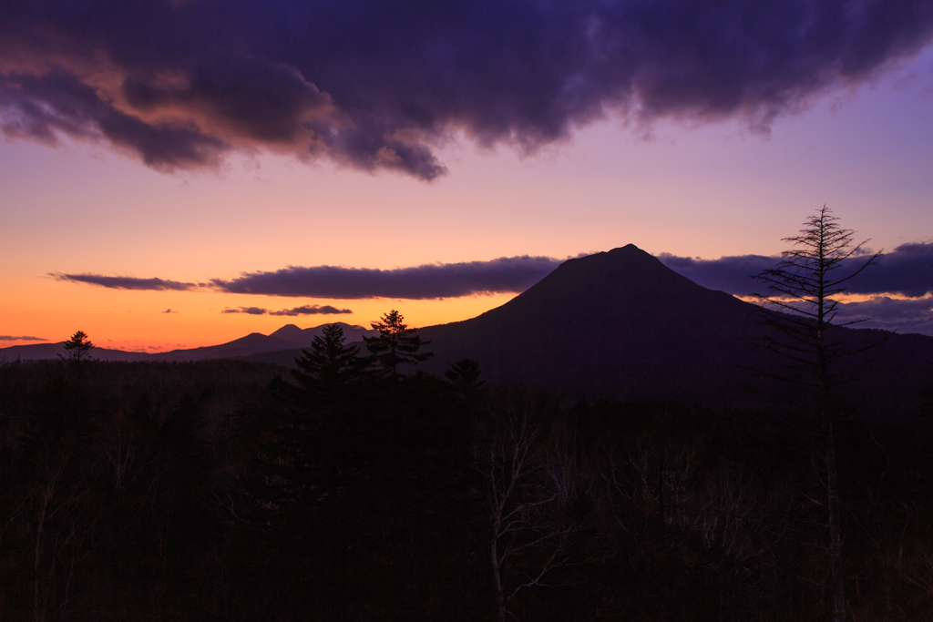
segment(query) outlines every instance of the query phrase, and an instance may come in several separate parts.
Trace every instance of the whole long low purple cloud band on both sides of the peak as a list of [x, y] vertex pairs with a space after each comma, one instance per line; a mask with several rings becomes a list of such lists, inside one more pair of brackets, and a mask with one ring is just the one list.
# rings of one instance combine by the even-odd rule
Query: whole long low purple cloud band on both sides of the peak
[[[780, 260], [780, 257], [760, 255], [698, 259], [661, 254], [658, 258], [668, 268], [694, 283], [737, 296], [759, 292], [760, 283], [751, 277], [761, 270], [773, 268]], [[550, 274], [563, 261], [547, 256], [512, 256], [390, 270], [291, 266], [271, 272], [244, 272], [233, 279], [212, 279], [209, 283], [100, 274], [53, 273], [51, 276], [60, 281], [126, 290], [209, 289], [229, 294], [274, 297], [432, 299], [520, 293]], [[860, 261], [864, 261], [864, 257], [853, 257], [850, 264], [855, 267]], [[876, 266], [847, 286], [852, 294], [897, 294], [903, 297], [933, 294], [933, 243], [900, 245], [881, 256]], [[297, 310], [292, 311], [298, 313]]]

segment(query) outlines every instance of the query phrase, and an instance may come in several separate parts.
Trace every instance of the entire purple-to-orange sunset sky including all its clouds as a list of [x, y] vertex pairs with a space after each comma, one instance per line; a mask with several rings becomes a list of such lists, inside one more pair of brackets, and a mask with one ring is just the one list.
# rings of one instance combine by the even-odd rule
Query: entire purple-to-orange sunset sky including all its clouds
[[[634, 243], [746, 295], [828, 204], [933, 334], [933, 3], [0, 4], [0, 347], [464, 320]], [[744, 273], [745, 272], [745, 273]]]

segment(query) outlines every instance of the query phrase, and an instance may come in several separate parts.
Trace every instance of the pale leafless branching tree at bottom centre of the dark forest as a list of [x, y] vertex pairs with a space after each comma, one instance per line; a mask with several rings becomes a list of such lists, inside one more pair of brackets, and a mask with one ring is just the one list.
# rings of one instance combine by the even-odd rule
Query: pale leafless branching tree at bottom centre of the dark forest
[[579, 563], [577, 520], [564, 508], [581, 480], [574, 459], [549, 455], [544, 424], [527, 405], [516, 408], [475, 448], [488, 492], [489, 553], [499, 622], [529, 587], [565, 585], [556, 571]]

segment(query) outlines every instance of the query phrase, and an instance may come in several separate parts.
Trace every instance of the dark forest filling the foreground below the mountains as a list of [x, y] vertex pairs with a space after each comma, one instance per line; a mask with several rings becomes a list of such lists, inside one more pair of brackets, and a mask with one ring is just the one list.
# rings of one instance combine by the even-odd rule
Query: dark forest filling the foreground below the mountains
[[[807, 420], [306, 363], [0, 366], [0, 620], [831, 615]], [[917, 414], [836, 429], [854, 620], [933, 619]]]

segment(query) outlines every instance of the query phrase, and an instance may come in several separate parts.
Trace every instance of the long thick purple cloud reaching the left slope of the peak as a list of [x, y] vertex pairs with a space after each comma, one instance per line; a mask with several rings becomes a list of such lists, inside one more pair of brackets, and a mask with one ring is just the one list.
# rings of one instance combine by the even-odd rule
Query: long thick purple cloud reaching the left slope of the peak
[[245, 272], [230, 281], [211, 284], [230, 294], [315, 298], [428, 299], [523, 292], [562, 263], [543, 256], [500, 257], [492, 261], [425, 264], [375, 270], [315, 266], [274, 272]]

